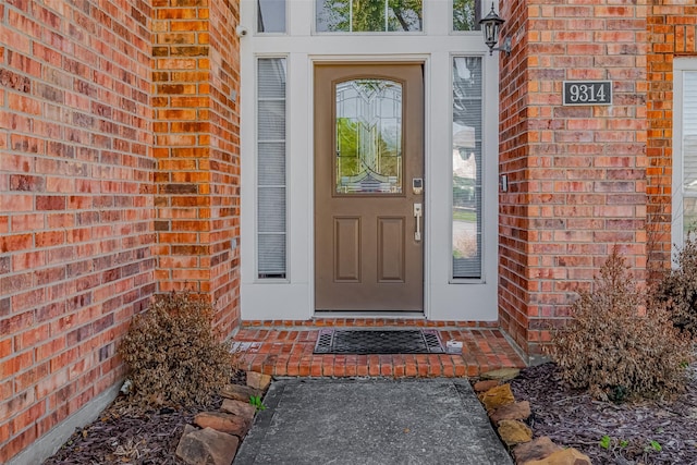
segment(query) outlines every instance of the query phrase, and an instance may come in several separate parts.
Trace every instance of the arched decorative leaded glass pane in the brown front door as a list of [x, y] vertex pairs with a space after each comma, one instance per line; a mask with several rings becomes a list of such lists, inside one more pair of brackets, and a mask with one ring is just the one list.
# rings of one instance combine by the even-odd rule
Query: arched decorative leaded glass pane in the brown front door
[[337, 194], [401, 194], [402, 84], [346, 81], [335, 96]]

